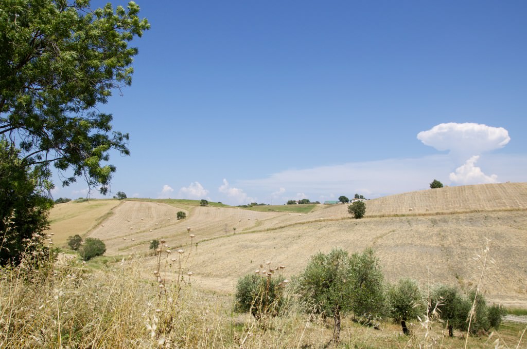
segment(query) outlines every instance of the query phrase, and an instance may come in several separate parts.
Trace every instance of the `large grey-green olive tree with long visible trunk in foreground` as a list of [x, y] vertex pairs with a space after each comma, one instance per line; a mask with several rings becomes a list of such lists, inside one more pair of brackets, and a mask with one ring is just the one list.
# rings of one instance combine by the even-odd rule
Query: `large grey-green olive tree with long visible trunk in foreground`
[[341, 314], [352, 310], [351, 272], [348, 252], [333, 249], [312, 256], [299, 277], [301, 299], [313, 306], [315, 313], [333, 317], [334, 343], [339, 339]]

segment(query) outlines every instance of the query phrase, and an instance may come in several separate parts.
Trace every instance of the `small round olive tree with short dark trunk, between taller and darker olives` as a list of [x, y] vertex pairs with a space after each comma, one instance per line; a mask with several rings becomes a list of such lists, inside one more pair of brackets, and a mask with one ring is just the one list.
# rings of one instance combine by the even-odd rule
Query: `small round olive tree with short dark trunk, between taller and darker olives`
[[406, 321], [423, 313], [423, 296], [417, 282], [400, 279], [388, 289], [390, 313], [395, 321], [401, 321], [403, 332], [408, 334]]

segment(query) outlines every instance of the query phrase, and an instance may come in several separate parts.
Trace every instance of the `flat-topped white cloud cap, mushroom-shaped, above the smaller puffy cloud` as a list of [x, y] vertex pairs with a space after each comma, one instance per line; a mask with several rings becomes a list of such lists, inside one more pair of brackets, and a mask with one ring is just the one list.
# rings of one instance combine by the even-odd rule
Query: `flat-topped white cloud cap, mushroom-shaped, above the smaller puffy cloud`
[[448, 122], [439, 124], [430, 130], [421, 131], [417, 139], [437, 150], [450, 150], [458, 157], [467, 158], [483, 152], [503, 148], [511, 138], [503, 127], [491, 127], [483, 124]]

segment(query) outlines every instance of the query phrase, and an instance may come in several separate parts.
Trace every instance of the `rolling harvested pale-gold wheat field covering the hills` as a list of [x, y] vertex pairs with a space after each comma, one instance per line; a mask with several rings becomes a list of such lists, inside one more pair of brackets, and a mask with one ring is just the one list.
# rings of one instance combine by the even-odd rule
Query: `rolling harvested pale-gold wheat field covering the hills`
[[[180, 210], [186, 219], [175, 218]], [[367, 200], [360, 220], [350, 218], [346, 204], [300, 214], [124, 201], [88, 235], [106, 243], [106, 255], [144, 255], [145, 273], [157, 263], [148, 255], [150, 240], [165, 239], [173, 250], [192, 249], [183, 265], [193, 272], [194, 282], [225, 293], [232, 293], [240, 276], [266, 266], [266, 261], [284, 265], [285, 274], [294, 275], [311, 255], [334, 247], [352, 253], [373, 247], [388, 280], [407, 276], [422, 284], [470, 287], [486, 258], [482, 285], [487, 299], [527, 308], [526, 213], [527, 183], [430, 189]], [[196, 234], [192, 247], [188, 227]], [[176, 253], [172, 257], [178, 260]]]

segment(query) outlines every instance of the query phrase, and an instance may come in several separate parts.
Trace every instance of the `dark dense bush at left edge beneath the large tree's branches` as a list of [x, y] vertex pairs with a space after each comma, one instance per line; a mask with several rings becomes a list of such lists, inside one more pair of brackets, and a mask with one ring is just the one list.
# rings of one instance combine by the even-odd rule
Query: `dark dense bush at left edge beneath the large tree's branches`
[[0, 137], [0, 265], [18, 264], [24, 250], [43, 242], [41, 233], [48, 228], [53, 206], [53, 200], [37, 189], [38, 178], [18, 154]]

